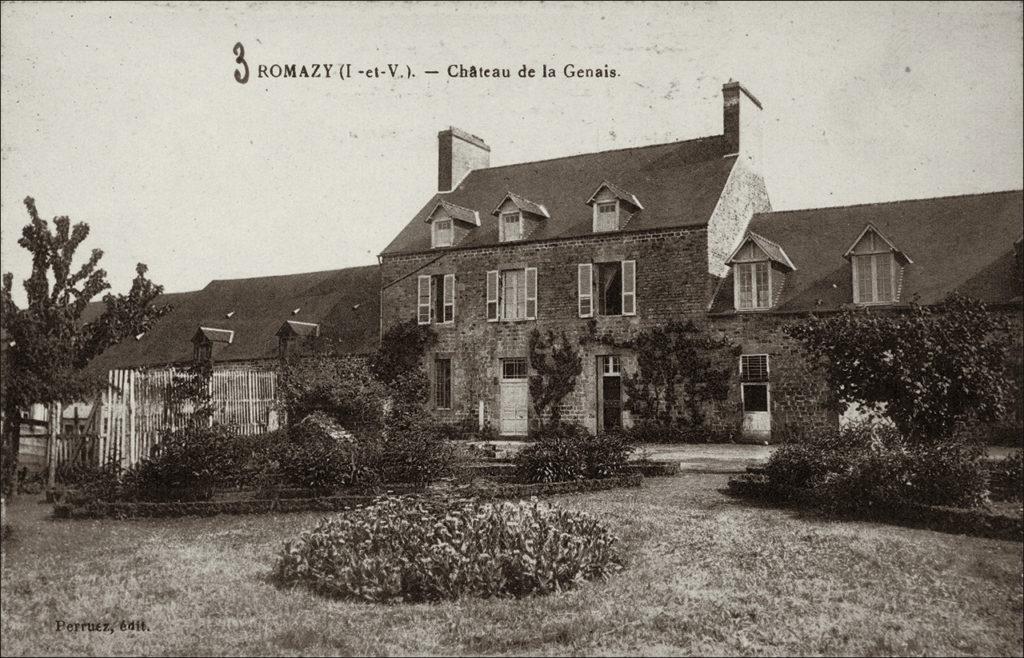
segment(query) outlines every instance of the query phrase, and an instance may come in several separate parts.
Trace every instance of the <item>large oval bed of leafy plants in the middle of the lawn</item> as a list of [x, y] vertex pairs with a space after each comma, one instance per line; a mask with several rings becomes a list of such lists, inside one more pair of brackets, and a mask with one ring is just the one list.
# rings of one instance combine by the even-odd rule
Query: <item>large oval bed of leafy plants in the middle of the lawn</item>
[[616, 541], [536, 500], [383, 497], [287, 542], [274, 579], [367, 602], [544, 595], [617, 571]]

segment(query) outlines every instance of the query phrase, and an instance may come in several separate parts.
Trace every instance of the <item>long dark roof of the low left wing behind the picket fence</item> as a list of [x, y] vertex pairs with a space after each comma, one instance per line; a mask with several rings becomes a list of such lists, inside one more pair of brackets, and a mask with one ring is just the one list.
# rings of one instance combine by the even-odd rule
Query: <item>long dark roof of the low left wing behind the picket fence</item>
[[188, 362], [190, 339], [200, 326], [234, 332], [231, 344], [218, 350], [218, 362], [275, 359], [276, 333], [287, 320], [319, 324], [325, 346], [335, 353], [368, 354], [377, 347], [380, 332], [379, 296], [377, 265], [214, 280], [201, 291], [174, 294], [173, 310], [140, 340], [112, 347], [89, 368]]

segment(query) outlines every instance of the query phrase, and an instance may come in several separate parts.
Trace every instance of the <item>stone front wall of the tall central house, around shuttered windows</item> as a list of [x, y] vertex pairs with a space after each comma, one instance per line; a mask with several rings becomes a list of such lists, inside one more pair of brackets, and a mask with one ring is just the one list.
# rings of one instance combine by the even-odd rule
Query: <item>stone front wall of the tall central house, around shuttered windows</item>
[[[500, 359], [527, 356], [529, 334], [536, 328], [556, 335], [564, 332], [579, 349], [583, 372], [575, 391], [562, 404], [562, 418], [594, 430], [598, 358], [618, 354], [624, 375], [634, 371], [635, 358], [627, 350], [603, 343], [581, 346], [580, 339], [597, 333], [624, 340], [646, 326], [702, 316], [709, 301], [707, 253], [707, 231], [698, 227], [385, 257], [383, 325], [386, 331], [416, 317], [418, 275], [454, 272], [455, 321], [432, 325], [438, 341], [427, 356], [428, 367], [436, 357], [452, 359], [453, 408], [434, 409], [438, 420], [475, 421], [482, 401], [484, 418], [497, 428]], [[636, 261], [636, 315], [581, 318], [578, 265], [622, 260]], [[523, 267], [538, 269], [537, 319], [486, 321], [486, 272]]]

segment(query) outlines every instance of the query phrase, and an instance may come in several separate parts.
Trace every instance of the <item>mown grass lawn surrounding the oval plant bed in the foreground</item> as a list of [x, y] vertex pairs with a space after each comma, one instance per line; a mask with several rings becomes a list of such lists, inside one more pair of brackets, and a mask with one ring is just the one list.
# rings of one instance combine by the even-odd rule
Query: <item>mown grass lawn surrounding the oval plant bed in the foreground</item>
[[[555, 498], [605, 519], [628, 568], [522, 601], [328, 601], [266, 582], [318, 515], [51, 521], [12, 506], [3, 653], [1021, 655], [1020, 543], [825, 522], [719, 492], [726, 475]], [[142, 620], [68, 632], [57, 621]]]

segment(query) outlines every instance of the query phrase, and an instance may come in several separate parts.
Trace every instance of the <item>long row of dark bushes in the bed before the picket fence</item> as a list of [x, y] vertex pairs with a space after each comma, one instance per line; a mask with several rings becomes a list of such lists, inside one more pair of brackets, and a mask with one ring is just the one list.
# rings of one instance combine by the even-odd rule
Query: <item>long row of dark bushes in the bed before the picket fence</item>
[[100, 500], [202, 501], [223, 484], [301, 488], [323, 496], [388, 483], [422, 486], [446, 475], [451, 466], [451, 446], [434, 426], [409, 422], [356, 437], [313, 412], [288, 430], [255, 437], [220, 426], [169, 432], [128, 469], [78, 465], [63, 470], [60, 484], [82, 498]]

